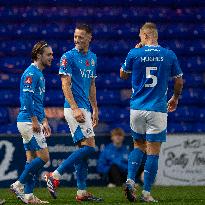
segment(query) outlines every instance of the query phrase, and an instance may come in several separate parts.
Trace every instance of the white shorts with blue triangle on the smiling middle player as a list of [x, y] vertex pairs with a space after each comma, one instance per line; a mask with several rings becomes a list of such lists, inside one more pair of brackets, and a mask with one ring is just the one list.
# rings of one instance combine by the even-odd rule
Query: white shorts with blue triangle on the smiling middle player
[[95, 136], [92, 126], [91, 113], [84, 108], [80, 109], [83, 111], [83, 114], [85, 116], [84, 123], [79, 123], [76, 121], [76, 119], [73, 117], [73, 111], [71, 108], [64, 108], [65, 119], [70, 128], [74, 143], [77, 143], [84, 138]]

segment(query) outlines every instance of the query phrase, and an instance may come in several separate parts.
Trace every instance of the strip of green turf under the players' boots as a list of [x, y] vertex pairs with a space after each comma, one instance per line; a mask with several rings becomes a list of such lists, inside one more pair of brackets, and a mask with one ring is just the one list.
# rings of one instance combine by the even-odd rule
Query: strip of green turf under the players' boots
[[[205, 204], [205, 188], [204, 187], [154, 187], [152, 194], [159, 200], [158, 204]], [[91, 187], [89, 188], [96, 196], [104, 198], [104, 202], [98, 204], [132, 204], [129, 203], [122, 191], [122, 188], [106, 188], [106, 187]], [[36, 195], [43, 199], [48, 200], [50, 204], [70, 205], [79, 204], [75, 201], [76, 189], [74, 188], [59, 188], [58, 199], [54, 200], [50, 198], [46, 189], [36, 189]], [[137, 192], [138, 196], [140, 191]], [[6, 204], [22, 204], [17, 201], [15, 196], [10, 193], [8, 189], [0, 189], [0, 198], [7, 200]], [[137, 201], [137, 204], [140, 202]], [[80, 204], [93, 204], [91, 202], [84, 202]], [[95, 203], [96, 204], [96, 203]], [[144, 204], [144, 203], [140, 203]]]

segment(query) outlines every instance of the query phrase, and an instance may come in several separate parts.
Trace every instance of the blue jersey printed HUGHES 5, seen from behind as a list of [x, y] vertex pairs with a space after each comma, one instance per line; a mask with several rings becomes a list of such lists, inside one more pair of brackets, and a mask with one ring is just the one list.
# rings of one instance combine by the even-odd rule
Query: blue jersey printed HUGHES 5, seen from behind
[[170, 77], [182, 76], [175, 53], [161, 46], [130, 50], [122, 65], [132, 73], [130, 108], [167, 112], [167, 89]]

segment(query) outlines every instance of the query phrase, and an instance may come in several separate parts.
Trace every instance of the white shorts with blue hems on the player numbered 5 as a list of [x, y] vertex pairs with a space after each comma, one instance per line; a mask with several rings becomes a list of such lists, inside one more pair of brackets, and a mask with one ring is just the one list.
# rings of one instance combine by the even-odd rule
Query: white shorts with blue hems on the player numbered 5
[[130, 127], [134, 140], [165, 142], [167, 113], [131, 109]]

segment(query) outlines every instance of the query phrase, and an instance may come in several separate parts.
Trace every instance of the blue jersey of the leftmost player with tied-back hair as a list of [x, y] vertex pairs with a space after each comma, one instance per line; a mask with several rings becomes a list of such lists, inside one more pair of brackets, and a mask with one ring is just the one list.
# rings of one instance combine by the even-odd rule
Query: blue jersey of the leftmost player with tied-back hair
[[20, 84], [21, 108], [18, 122], [31, 122], [36, 116], [41, 123], [45, 118], [44, 112], [45, 79], [42, 71], [33, 63], [24, 71]]

